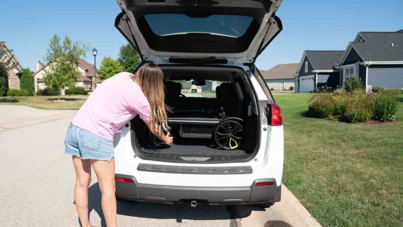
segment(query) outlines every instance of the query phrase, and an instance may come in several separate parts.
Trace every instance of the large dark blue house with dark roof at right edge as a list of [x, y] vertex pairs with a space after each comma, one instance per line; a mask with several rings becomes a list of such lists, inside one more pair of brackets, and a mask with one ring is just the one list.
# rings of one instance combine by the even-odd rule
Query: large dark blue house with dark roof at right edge
[[340, 84], [361, 78], [363, 87], [403, 88], [403, 30], [359, 32], [339, 60]]

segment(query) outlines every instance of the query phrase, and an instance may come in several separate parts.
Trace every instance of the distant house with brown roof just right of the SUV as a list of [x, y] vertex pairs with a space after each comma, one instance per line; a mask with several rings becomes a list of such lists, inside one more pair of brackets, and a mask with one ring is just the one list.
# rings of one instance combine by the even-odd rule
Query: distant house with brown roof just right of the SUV
[[[277, 65], [270, 70], [260, 71], [267, 86], [276, 91], [294, 90], [294, 75], [297, 71], [298, 63]], [[290, 89], [292, 87], [292, 89]]]

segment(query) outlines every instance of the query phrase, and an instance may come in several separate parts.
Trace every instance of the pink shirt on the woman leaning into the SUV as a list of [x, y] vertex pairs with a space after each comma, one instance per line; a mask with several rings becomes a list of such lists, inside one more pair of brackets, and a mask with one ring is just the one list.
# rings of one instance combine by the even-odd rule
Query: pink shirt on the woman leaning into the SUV
[[112, 76], [91, 93], [72, 123], [102, 138], [113, 140], [123, 126], [140, 115], [150, 121], [150, 103], [140, 86], [123, 72]]

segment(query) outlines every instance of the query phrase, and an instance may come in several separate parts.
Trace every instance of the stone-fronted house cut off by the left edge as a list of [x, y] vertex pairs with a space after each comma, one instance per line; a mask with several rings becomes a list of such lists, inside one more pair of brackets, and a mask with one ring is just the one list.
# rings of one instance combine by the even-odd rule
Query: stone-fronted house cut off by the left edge
[[0, 62], [3, 63], [8, 70], [8, 78], [6, 78], [6, 90], [20, 89], [20, 78], [24, 68], [18, 61], [6, 42], [0, 41]]

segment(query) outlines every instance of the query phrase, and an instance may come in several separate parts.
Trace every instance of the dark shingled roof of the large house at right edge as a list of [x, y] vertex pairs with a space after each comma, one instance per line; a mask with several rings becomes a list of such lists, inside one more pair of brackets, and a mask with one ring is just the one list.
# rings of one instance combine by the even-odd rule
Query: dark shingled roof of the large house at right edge
[[[354, 48], [364, 62], [401, 62], [403, 61], [403, 32], [359, 32], [357, 37], [363, 37], [364, 41], [350, 42], [347, 46], [342, 64]], [[393, 45], [392, 45], [393, 43]]]

